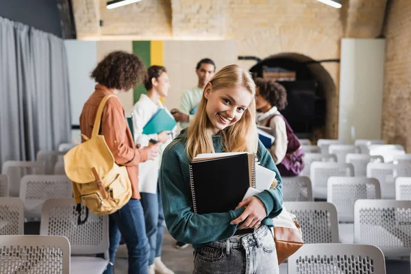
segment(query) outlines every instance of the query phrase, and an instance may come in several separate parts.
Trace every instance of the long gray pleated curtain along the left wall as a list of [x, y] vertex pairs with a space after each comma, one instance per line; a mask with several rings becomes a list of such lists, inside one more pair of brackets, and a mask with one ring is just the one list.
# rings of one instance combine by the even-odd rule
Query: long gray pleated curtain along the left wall
[[69, 141], [68, 79], [62, 39], [0, 17], [0, 164]]

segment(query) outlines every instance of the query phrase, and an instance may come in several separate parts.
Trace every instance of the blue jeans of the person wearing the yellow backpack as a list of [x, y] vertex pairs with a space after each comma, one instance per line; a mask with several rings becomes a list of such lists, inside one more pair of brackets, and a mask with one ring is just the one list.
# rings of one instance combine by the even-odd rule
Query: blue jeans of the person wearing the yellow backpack
[[[110, 262], [114, 264], [117, 248], [123, 236], [128, 250], [128, 273], [148, 274], [150, 247], [140, 200], [130, 199], [123, 208], [109, 215], [109, 235]], [[108, 264], [104, 273], [112, 274], [113, 268]]]

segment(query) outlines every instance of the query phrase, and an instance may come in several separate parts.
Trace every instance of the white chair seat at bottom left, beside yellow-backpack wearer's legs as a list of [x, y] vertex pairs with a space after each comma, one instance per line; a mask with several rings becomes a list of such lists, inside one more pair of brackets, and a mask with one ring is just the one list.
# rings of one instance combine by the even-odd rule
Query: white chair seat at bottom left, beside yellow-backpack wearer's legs
[[103, 273], [107, 264], [103, 258], [71, 256], [71, 273]]

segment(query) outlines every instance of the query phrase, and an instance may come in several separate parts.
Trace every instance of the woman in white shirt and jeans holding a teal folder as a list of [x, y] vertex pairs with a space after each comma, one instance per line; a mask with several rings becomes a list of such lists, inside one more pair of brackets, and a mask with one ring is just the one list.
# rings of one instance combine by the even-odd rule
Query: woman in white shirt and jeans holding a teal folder
[[[149, 274], [173, 274], [162, 262], [161, 249], [164, 233], [164, 214], [160, 192], [158, 192], [158, 169], [161, 154], [166, 145], [173, 140], [175, 125], [173, 116], [160, 101], [170, 90], [169, 77], [164, 66], [150, 66], [147, 70], [145, 88], [147, 95], [141, 95], [133, 108], [134, 138], [141, 147], [149, 147], [160, 142], [160, 156], [139, 165], [138, 188], [144, 210], [147, 238], [150, 245]], [[169, 118], [171, 123], [164, 121]], [[172, 123], [174, 122], [174, 123]], [[164, 130], [164, 127], [168, 130]]]

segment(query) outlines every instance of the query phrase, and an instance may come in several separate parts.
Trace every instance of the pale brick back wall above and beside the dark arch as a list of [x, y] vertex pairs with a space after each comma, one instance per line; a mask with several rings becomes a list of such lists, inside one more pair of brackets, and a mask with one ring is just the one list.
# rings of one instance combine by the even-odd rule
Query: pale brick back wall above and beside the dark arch
[[[90, 3], [98, 5], [97, 16], [85, 11]], [[91, 25], [101, 18], [104, 25], [97, 29], [102, 40], [227, 39], [236, 41], [238, 55], [266, 58], [297, 53], [314, 60], [340, 58], [343, 37], [377, 36], [386, 6], [386, 0], [343, 0], [342, 9], [315, 0], [149, 0], [107, 10], [105, 3], [86, 0], [75, 5], [80, 39], [95, 36], [96, 27]], [[255, 62], [238, 64], [249, 69]], [[322, 137], [336, 138], [339, 64], [324, 63], [323, 67], [336, 89], [327, 94], [327, 126]]]

